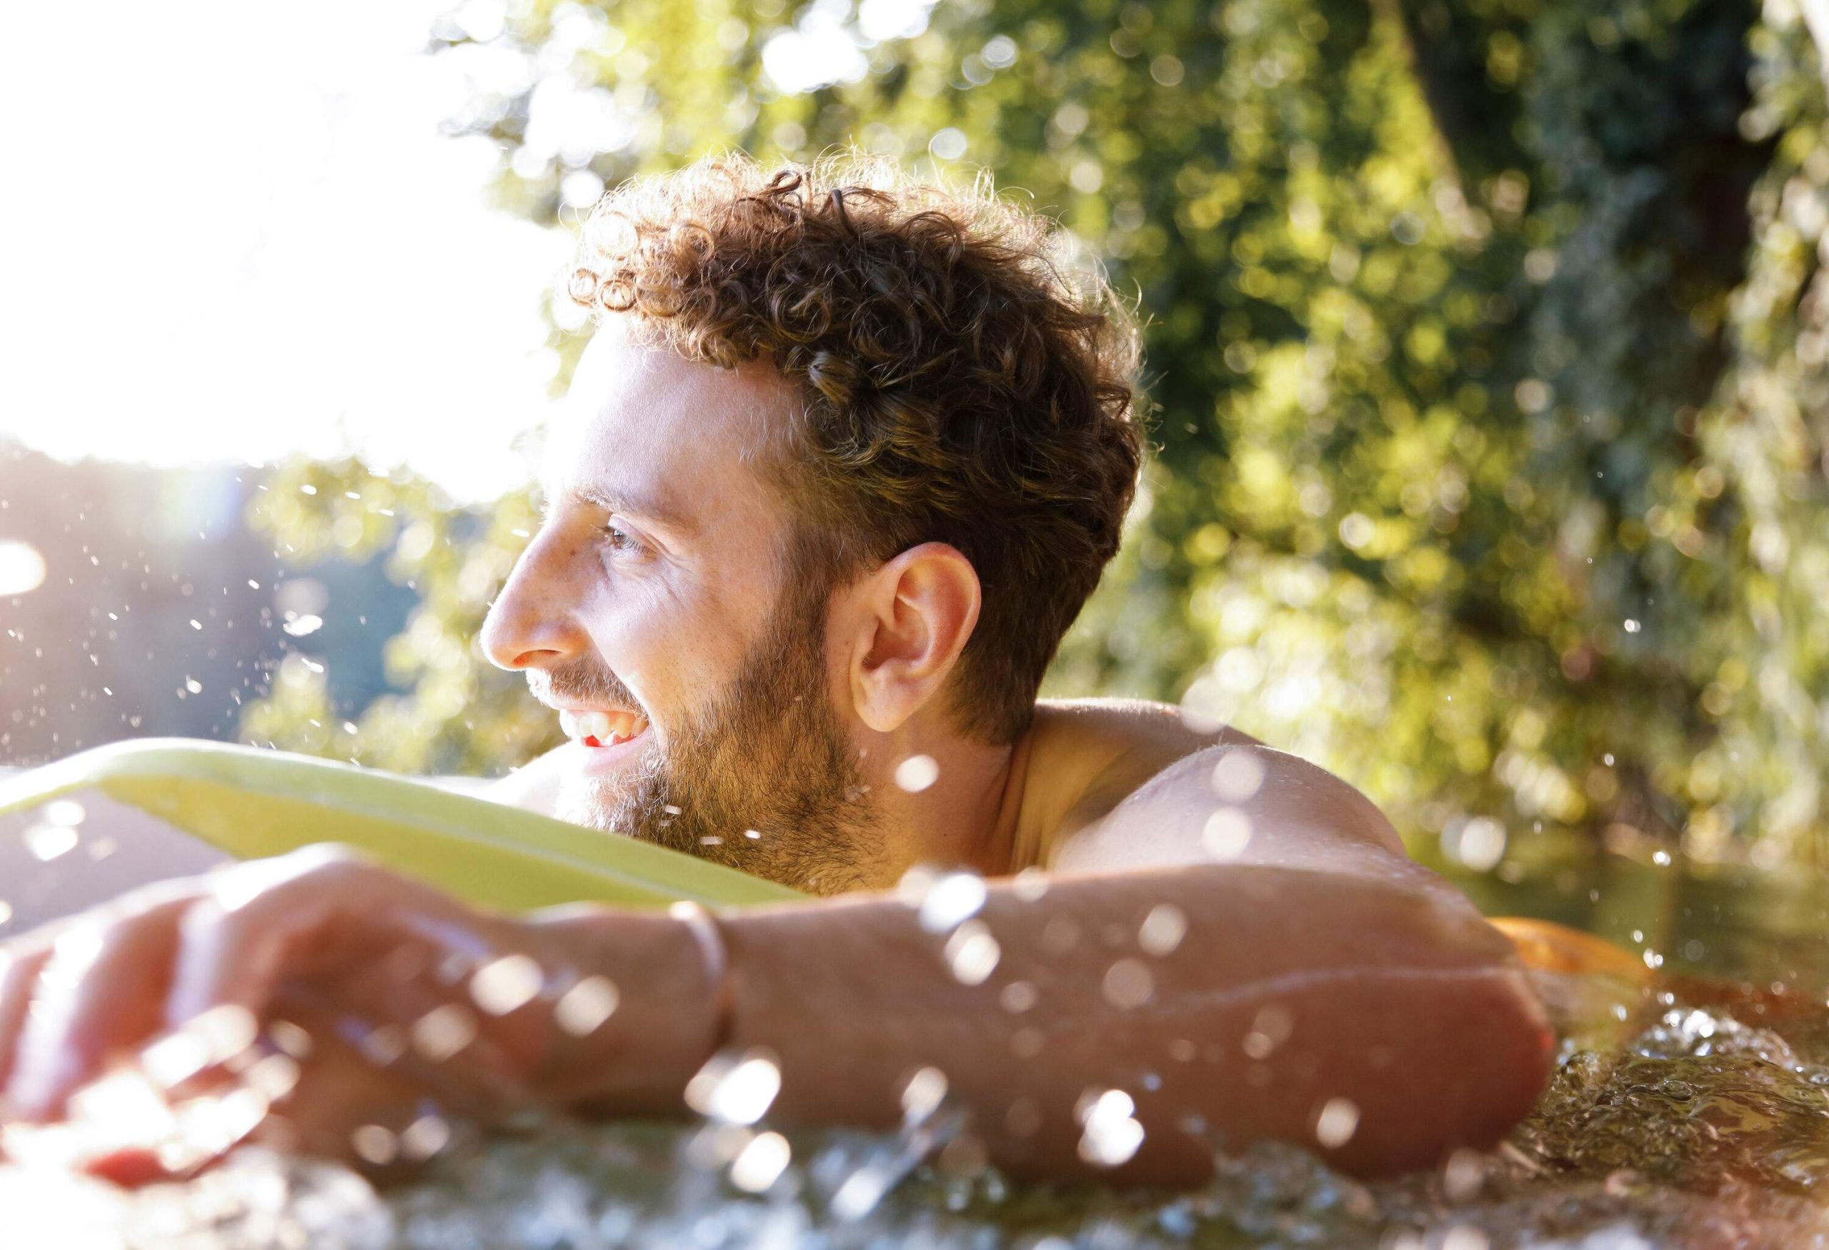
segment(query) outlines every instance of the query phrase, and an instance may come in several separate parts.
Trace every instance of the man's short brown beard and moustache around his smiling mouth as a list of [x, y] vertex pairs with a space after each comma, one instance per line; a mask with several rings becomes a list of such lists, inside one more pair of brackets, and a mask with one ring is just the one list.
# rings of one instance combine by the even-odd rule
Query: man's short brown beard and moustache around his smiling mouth
[[[832, 710], [823, 661], [825, 597], [790, 587], [711, 706], [671, 728], [664, 752], [651, 739], [620, 778], [565, 776], [556, 814], [810, 893], [867, 884], [882, 858], [876, 813]], [[638, 706], [604, 670], [560, 670], [551, 690], [585, 705]]]

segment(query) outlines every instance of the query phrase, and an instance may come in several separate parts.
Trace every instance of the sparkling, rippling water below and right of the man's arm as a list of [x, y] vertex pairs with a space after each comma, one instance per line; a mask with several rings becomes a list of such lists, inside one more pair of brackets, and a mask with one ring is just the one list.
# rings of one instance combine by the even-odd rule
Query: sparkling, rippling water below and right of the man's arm
[[1626, 860], [1461, 884], [1659, 966], [1644, 985], [1544, 975], [1566, 1041], [1536, 1113], [1427, 1175], [1361, 1184], [1260, 1146], [1194, 1193], [1015, 1188], [964, 1151], [913, 1166], [947, 1137], [942, 1104], [913, 1142], [552, 1124], [380, 1190], [262, 1151], [141, 1193], [0, 1169], [0, 1210], [60, 1213], [60, 1248], [1829, 1246], [1829, 891]]

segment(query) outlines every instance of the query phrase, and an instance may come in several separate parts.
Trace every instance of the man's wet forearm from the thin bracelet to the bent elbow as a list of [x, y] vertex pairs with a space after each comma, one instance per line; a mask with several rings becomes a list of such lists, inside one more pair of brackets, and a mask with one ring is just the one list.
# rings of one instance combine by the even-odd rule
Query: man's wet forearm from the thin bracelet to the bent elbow
[[971, 924], [929, 932], [882, 895], [724, 917], [726, 1032], [779, 1061], [772, 1118], [889, 1127], [931, 1067], [1017, 1173], [1123, 1153], [1121, 1124], [1083, 1144], [1105, 1091], [1143, 1129], [1123, 1179], [1198, 1179], [1260, 1137], [1386, 1171], [1494, 1140], [1547, 1069], [1507, 943], [1436, 893], [1194, 866], [991, 884]]

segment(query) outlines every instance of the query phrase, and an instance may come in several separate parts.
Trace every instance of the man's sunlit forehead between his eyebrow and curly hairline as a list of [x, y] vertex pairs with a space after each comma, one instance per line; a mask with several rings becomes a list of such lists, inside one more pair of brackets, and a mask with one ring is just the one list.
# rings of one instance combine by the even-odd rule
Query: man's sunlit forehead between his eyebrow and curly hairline
[[704, 509], [708, 490], [757, 476], [797, 404], [766, 362], [735, 370], [649, 346], [611, 317], [585, 344], [549, 428], [541, 489], [562, 494], [664, 492], [675, 511]]

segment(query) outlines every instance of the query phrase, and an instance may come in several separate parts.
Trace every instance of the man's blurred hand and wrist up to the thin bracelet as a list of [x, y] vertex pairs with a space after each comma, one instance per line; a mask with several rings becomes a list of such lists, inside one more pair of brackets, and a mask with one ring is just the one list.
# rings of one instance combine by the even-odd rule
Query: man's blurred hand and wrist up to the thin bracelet
[[[24, 1126], [88, 1109], [115, 1124], [75, 1162], [159, 1175], [201, 1162], [181, 1140], [196, 1137], [187, 1109], [212, 1126], [201, 1155], [254, 1135], [386, 1162], [433, 1107], [488, 1122], [578, 1098], [664, 1102], [710, 1021], [671, 1003], [658, 1032], [675, 1060], [655, 1063], [655, 1021], [624, 996], [644, 966], [693, 988], [682, 928], [487, 915], [335, 847], [165, 882], [0, 948], [0, 1122], [18, 1153]], [[121, 1140], [128, 1105], [157, 1140]]]

